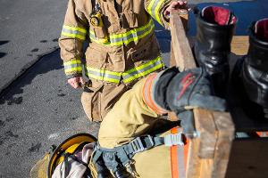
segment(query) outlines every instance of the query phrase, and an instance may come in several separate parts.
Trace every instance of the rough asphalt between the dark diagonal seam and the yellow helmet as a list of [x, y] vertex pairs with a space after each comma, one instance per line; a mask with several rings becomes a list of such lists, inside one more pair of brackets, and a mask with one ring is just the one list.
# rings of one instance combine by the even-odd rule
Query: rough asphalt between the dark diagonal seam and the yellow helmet
[[50, 53], [10, 86], [0, 107], [0, 177], [26, 178], [30, 168], [68, 136], [90, 133], [81, 90], [66, 84], [59, 51]]

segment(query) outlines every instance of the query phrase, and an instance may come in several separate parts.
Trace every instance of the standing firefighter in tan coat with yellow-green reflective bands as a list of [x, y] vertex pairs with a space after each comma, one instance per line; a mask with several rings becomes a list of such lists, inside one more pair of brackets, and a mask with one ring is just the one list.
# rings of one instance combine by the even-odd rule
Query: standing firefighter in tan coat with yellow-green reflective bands
[[[102, 121], [121, 94], [142, 77], [163, 69], [154, 18], [168, 28], [169, 12], [187, 2], [172, 0], [69, 0], [61, 57], [68, 83], [83, 86], [83, 108]], [[83, 44], [88, 47], [83, 52]], [[83, 61], [83, 59], [86, 61]], [[89, 78], [85, 83], [83, 73]]]

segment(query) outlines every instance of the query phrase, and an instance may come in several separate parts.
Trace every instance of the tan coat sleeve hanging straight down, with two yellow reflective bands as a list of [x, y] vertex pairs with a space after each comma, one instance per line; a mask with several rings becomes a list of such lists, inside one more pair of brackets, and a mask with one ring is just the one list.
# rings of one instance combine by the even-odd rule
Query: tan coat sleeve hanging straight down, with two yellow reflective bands
[[69, 0], [63, 30], [59, 38], [61, 58], [67, 78], [82, 76], [83, 42], [88, 34], [88, 20], [75, 0]]

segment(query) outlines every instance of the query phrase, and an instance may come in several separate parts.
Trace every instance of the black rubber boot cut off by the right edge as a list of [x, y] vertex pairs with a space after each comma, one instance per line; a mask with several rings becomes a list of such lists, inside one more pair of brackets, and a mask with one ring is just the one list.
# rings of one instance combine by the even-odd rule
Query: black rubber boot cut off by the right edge
[[262, 106], [268, 117], [268, 19], [254, 22], [249, 30], [241, 77], [249, 100]]

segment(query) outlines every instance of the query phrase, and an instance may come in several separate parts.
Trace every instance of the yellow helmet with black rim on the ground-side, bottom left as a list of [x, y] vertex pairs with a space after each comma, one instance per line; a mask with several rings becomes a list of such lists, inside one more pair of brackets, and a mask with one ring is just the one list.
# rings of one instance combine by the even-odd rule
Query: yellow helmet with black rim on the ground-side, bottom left
[[96, 142], [96, 138], [91, 134], [75, 134], [62, 142], [50, 157], [47, 167], [47, 177], [51, 178], [57, 165], [63, 162], [63, 153], [74, 153], [81, 150], [85, 144]]

